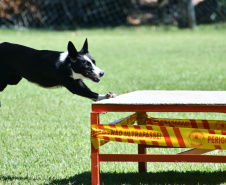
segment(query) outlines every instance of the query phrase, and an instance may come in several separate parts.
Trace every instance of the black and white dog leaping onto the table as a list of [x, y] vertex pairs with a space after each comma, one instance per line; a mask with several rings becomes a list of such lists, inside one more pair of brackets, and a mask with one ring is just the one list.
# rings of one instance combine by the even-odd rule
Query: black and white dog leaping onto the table
[[84, 79], [99, 82], [104, 75], [89, 54], [87, 39], [81, 51], [78, 52], [72, 42], [68, 42], [67, 49], [66, 52], [58, 52], [1, 43], [0, 91], [26, 78], [45, 88], [64, 86], [73, 94], [94, 101], [114, 98], [116, 95], [112, 92], [106, 95], [92, 92], [83, 82]]

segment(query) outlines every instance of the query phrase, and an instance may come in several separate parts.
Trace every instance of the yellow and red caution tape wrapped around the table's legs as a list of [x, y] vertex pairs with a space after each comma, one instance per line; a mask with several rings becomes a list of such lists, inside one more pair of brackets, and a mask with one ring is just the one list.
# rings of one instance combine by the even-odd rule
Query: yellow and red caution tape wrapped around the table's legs
[[[186, 123], [187, 120], [178, 119], [160, 119], [168, 120], [168, 122], [163, 123], [163, 121], [157, 121], [159, 118], [151, 118], [153, 124], [150, 125], [151, 121], [148, 119], [146, 125], [131, 125], [136, 121], [136, 114], [134, 114], [117, 121], [117, 124], [92, 127], [92, 144], [96, 149], [99, 148], [98, 140], [180, 148], [226, 149], [225, 130], [203, 129], [204, 126], [201, 124], [197, 124], [201, 128], [199, 126], [194, 128], [191, 123]], [[155, 122], [153, 119], [155, 119]], [[175, 124], [179, 124], [179, 122], [184, 127], [175, 127]], [[154, 125], [154, 123], [161, 125]], [[174, 125], [172, 125], [173, 123]], [[196, 120], [196, 123], [199, 122]], [[212, 128], [211, 123], [208, 121], [210, 128]], [[214, 123], [216, 124], [217, 121]], [[221, 123], [224, 125], [225, 121]]]

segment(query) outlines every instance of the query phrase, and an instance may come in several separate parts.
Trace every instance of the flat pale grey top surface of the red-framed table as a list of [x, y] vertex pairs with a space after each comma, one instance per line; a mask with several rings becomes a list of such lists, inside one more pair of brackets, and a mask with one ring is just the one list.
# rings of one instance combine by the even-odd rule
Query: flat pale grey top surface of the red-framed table
[[135, 91], [93, 104], [213, 104], [226, 105], [226, 91]]

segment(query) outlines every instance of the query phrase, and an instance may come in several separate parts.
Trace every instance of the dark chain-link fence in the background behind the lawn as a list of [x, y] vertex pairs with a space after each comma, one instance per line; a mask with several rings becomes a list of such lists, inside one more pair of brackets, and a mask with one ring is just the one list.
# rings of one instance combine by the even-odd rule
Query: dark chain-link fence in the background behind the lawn
[[[191, 0], [190, 0], [191, 1]], [[226, 0], [0, 0], [0, 27], [79, 29], [118, 25], [189, 27], [226, 21]]]

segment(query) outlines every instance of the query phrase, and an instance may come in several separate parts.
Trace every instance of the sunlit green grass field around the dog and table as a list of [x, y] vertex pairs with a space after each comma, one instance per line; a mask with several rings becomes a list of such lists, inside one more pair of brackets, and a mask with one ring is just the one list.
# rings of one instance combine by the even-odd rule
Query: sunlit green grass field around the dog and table
[[[120, 27], [79, 31], [0, 30], [0, 42], [65, 51], [73, 41], [105, 71], [95, 92], [226, 90], [226, 26], [178, 30]], [[22, 80], [0, 94], [0, 184], [90, 184], [91, 100], [65, 88], [47, 90]], [[150, 113], [155, 117], [224, 119], [225, 114]], [[102, 122], [128, 115], [108, 113]], [[133, 144], [109, 143], [102, 153], [136, 153]], [[154, 149], [152, 153], [183, 149]], [[226, 154], [215, 151], [214, 154]], [[225, 184], [225, 164], [101, 163], [102, 184]]]

